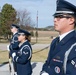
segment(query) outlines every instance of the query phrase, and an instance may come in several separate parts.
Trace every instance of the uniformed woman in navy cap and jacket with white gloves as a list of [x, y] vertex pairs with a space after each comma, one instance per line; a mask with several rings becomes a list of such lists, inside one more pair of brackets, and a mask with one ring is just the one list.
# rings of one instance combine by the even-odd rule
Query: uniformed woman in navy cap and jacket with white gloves
[[13, 61], [17, 63], [17, 75], [31, 75], [31, 57], [32, 47], [30, 44], [30, 33], [20, 29], [18, 32], [18, 41], [20, 42], [18, 53], [12, 53]]

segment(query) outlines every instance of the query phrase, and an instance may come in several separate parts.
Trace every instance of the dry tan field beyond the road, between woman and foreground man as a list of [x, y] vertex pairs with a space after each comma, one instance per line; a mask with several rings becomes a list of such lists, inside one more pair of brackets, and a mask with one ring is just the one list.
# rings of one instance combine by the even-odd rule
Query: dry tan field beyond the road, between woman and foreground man
[[37, 38], [32, 37], [31, 42], [36, 43], [36, 39], [37, 39], [37, 43], [46, 44], [46, 43], [50, 43], [52, 39], [55, 38], [56, 36], [58, 36], [58, 32], [56, 31], [38, 31], [38, 37]]

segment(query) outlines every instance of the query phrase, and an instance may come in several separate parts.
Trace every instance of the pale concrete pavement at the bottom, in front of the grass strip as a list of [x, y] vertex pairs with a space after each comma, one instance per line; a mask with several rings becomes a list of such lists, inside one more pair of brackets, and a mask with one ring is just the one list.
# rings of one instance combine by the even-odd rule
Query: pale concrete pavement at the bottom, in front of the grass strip
[[[33, 70], [32, 75], [39, 75], [42, 69], [43, 63], [32, 62], [31, 64], [32, 64], [32, 70]], [[13, 75], [13, 70], [12, 70], [12, 73], [9, 72], [9, 64], [0, 66], [0, 75]]]

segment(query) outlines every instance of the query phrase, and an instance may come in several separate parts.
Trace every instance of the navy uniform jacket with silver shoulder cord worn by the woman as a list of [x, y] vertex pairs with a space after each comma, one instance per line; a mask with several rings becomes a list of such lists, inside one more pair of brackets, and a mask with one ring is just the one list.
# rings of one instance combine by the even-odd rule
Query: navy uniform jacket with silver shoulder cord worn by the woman
[[14, 61], [17, 63], [18, 75], [31, 75], [32, 48], [28, 41], [25, 41], [19, 48], [18, 53], [14, 57]]

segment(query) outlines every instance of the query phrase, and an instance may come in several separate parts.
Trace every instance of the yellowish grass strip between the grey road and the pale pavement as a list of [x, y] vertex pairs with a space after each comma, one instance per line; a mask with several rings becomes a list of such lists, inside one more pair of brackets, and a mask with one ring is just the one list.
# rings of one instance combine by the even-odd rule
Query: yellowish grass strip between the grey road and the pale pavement
[[[33, 50], [32, 61], [33, 62], [44, 62], [48, 55], [48, 49], [43, 51]], [[0, 51], [0, 64], [8, 62], [8, 51]]]

